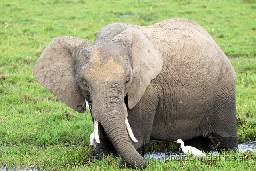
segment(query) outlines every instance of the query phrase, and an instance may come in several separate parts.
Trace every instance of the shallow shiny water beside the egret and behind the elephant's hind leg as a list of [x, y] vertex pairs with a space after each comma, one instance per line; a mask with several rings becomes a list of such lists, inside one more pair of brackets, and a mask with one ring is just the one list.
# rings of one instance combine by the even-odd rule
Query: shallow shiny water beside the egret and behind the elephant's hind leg
[[[248, 143], [238, 145], [239, 152], [245, 152], [246, 150], [256, 151], [256, 141], [250, 141]], [[211, 153], [218, 154], [218, 152], [211, 152]], [[184, 155], [185, 154], [183, 152], [177, 153], [172, 151], [156, 152], [156, 153], [148, 152], [145, 154], [145, 158], [150, 157], [150, 158], [159, 159], [159, 160], [168, 160], [170, 159], [170, 157], [182, 157]]]

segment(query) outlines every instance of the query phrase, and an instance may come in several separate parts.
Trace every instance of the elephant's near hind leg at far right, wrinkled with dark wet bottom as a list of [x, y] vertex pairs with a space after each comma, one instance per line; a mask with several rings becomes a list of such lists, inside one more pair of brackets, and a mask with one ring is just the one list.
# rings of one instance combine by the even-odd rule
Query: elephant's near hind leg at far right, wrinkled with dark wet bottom
[[[222, 71], [223, 72], [223, 71]], [[212, 105], [211, 131], [208, 138], [220, 149], [236, 151], [238, 138], [236, 130], [236, 80], [232, 70], [222, 73], [214, 94]]]

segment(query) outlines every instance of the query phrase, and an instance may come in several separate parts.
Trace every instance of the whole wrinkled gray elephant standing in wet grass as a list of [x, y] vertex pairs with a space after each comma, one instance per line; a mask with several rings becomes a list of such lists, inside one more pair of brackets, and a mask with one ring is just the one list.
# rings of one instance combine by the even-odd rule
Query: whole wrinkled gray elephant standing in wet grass
[[[114, 23], [94, 43], [59, 36], [34, 74], [72, 109], [99, 123], [96, 152], [118, 153], [122, 165], [146, 168], [140, 155], [150, 139], [210, 150], [238, 148], [235, 71], [211, 36], [186, 19], [152, 26]], [[128, 118], [138, 143], [130, 139]]]

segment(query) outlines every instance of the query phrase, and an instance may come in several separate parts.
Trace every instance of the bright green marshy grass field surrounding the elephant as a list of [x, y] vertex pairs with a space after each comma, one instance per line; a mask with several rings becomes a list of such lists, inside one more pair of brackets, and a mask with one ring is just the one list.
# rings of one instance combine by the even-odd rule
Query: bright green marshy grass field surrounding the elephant
[[[130, 14], [124, 17], [124, 14]], [[0, 2], [0, 166], [41, 170], [116, 170], [120, 158], [90, 159], [92, 121], [42, 87], [32, 67], [60, 35], [91, 40], [113, 22], [150, 25], [188, 18], [214, 38], [236, 70], [239, 142], [256, 139], [255, 0], [38, 0]], [[177, 148], [154, 141], [148, 151]], [[256, 153], [223, 153], [234, 161], [158, 161], [147, 170], [226, 170], [256, 167]], [[238, 160], [243, 156], [242, 160]], [[128, 169], [126, 169], [128, 170]]]

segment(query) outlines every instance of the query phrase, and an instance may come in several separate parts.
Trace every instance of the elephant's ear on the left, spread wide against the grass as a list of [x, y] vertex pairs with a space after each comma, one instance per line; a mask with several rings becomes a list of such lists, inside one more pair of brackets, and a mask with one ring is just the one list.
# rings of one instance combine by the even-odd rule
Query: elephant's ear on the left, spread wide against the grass
[[33, 67], [36, 80], [70, 108], [84, 113], [85, 100], [76, 83], [76, 52], [90, 40], [59, 36], [52, 40]]

